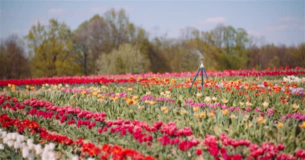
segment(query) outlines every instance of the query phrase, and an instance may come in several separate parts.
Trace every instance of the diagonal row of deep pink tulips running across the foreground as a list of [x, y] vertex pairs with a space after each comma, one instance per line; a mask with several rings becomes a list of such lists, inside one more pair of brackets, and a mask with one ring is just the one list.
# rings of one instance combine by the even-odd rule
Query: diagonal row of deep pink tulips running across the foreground
[[[4, 96], [2, 96], [4, 97]], [[8, 99], [8, 98], [5, 98], [5, 99]], [[13, 102], [16, 102], [16, 104], [18, 104], [16, 98], [13, 98]], [[62, 114], [62, 117], [65, 117], [64, 116], [64, 113], [77, 113], [76, 115], [80, 115], [79, 113], [80, 112], [88, 112], [88, 111], [81, 111], [80, 109], [78, 111], [75, 111], [76, 109], [73, 109], [71, 107], [58, 107], [58, 106], [54, 106], [52, 105], [52, 103], [50, 102], [46, 102], [46, 101], [39, 101], [39, 100], [36, 100], [36, 99], [31, 99], [31, 100], [25, 100], [23, 102], [24, 104], [26, 105], [31, 105], [33, 107], [35, 107], [34, 109], [36, 108], [40, 108], [40, 107], [44, 107], [45, 105], [47, 105], [47, 107], [49, 108], [53, 108], [52, 110], [56, 111], [56, 112], [61, 112]], [[50, 110], [50, 109], [48, 109]], [[37, 111], [37, 110], [36, 110]], [[30, 111], [30, 114], [31, 112], [33, 112], [33, 109]], [[38, 113], [36, 112], [36, 115], [40, 116], [41, 114], [43, 114], [42, 112]], [[89, 112], [89, 115], [86, 114], [85, 117], [87, 119], [90, 119], [91, 116], [93, 115], [94, 113], [90, 113]], [[33, 114], [34, 115], [34, 114]], [[58, 114], [56, 114], [58, 115]], [[79, 116], [78, 116], [79, 117]], [[104, 118], [104, 114], [102, 116]], [[76, 118], [76, 116], [74, 117]], [[67, 120], [67, 119], [66, 119]], [[78, 120], [79, 121], [79, 120]], [[78, 122], [79, 123], [79, 122]], [[92, 124], [93, 122], [87, 122], [87, 124], [89, 124], [88, 126], [90, 126], [90, 123]], [[168, 124], [162, 124], [162, 122], [157, 122], [156, 125], [154, 124], [153, 128], [147, 126], [147, 123], [142, 123], [142, 122], [139, 122], [139, 121], [133, 121], [132, 124], [140, 124], [138, 125], [139, 127], [142, 126], [144, 128], [146, 128], [146, 130], [148, 129], [149, 131], [155, 131], [154, 128], [156, 128], [155, 126], [157, 126], [157, 128], [163, 126], [160, 131], [161, 132], [166, 132], [167, 134], [164, 134], [163, 137], [158, 137], [158, 141], [161, 141], [163, 145], [167, 145], [167, 143], [170, 143], [170, 144], [175, 144], [177, 143], [178, 144], [178, 148], [180, 150], [188, 150], [190, 149], [192, 146], [197, 146], [199, 144], [199, 140], [197, 139], [193, 139], [193, 140], [184, 140], [184, 141], [181, 141], [179, 138], [174, 138], [174, 139], [171, 139], [169, 136], [180, 136], [180, 135], [186, 135], [186, 136], [191, 136], [192, 135], [192, 131], [189, 130], [189, 128], [183, 128], [183, 130], [178, 130], [175, 123], [168, 123]], [[129, 124], [131, 124], [130, 120], [122, 120], [122, 119], [118, 119], [118, 120], [115, 120], [115, 121], [111, 121], [109, 120], [107, 122], [107, 126], [108, 127], [111, 127], [112, 125], [119, 125], [119, 127], [116, 127], [119, 128], [119, 131], [121, 131], [121, 134], [122, 134], [122, 130], [120, 130], [121, 128], [124, 128], [124, 127], [121, 127], [121, 126], [130, 126]], [[95, 124], [94, 124], [95, 125]], [[128, 131], [129, 129], [133, 128], [133, 127], [136, 127], [137, 125], [133, 125], [131, 127], [128, 127]], [[88, 127], [89, 129], [91, 129], [90, 127]], [[116, 129], [113, 129], [111, 128], [111, 132], [115, 132]], [[187, 130], [187, 131], [184, 131], [184, 130]], [[107, 129], [102, 129], [101, 131], [98, 131], [98, 132], [102, 132], [102, 131], [106, 131]], [[132, 132], [132, 131], [130, 131]], [[179, 134], [181, 133], [181, 134]], [[139, 134], [137, 134], [139, 135]], [[212, 139], [214, 139], [214, 142], [209, 142], [210, 140], [207, 140], [207, 139], [210, 139], [209, 137], [213, 137]], [[261, 148], [258, 147], [257, 144], [251, 144], [250, 141], [248, 140], [244, 140], [244, 139], [239, 139], [239, 140], [234, 140], [234, 139], [230, 139], [227, 135], [225, 134], [221, 134], [221, 136], [219, 137], [221, 141], [223, 141], [223, 145], [232, 145], [234, 147], [237, 147], [237, 146], [242, 146], [242, 145], [246, 145], [246, 146], [250, 146], [250, 150], [251, 150], [251, 157], [253, 158], [257, 158], [258, 156], [261, 156], [261, 157], [265, 157], [265, 158], [271, 158], [271, 157], [275, 157], [275, 155], [278, 153], [278, 151], [280, 150], [283, 150], [285, 148], [285, 146], [283, 144], [278, 144], [278, 147], [275, 147], [275, 148], [281, 148], [281, 149], [276, 149], [276, 150], [266, 150], [264, 151], [264, 147], [265, 146], [273, 146], [274, 144], [271, 144], [271, 143], [268, 143], [268, 142], [265, 142], [262, 144]], [[228, 155], [227, 154], [227, 151], [224, 147], [221, 147], [221, 148], [218, 148], [216, 146], [210, 146], [209, 144], [210, 143], [219, 143], [219, 142], [215, 142], [215, 140], [217, 141], [217, 138], [216, 136], [213, 136], [213, 135], [207, 135], [206, 138], [205, 138], [205, 141], [204, 143], [208, 146], [207, 150], [210, 152], [211, 155], [215, 156], [215, 158], [219, 158], [219, 157], [223, 157], [225, 159], [240, 159], [242, 158], [242, 155], [240, 154], [233, 154], [233, 155]], [[251, 145], [250, 145], [251, 144]], [[253, 146], [252, 146], [253, 145]], [[274, 147], [272, 147], [274, 148]], [[263, 150], [263, 151], [262, 151]], [[219, 153], [220, 151], [220, 153]], [[302, 151], [302, 150], [301, 150]], [[301, 152], [301, 151], [296, 151], [296, 157], [301, 157], [301, 156], [298, 156], [298, 152]], [[201, 149], [197, 149], [196, 151], [196, 154], [200, 155], [202, 152]], [[254, 152], [254, 153], [253, 153]], [[219, 154], [218, 154], [219, 153]], [[281, 153], [281, 154], [278, 154], [277, 156], [277, 159], [285, 159], [285, 158], [290, 158], [290, 159], [295, 159], [293, 156], [291, 155], [287, 155], [285, 153]]]

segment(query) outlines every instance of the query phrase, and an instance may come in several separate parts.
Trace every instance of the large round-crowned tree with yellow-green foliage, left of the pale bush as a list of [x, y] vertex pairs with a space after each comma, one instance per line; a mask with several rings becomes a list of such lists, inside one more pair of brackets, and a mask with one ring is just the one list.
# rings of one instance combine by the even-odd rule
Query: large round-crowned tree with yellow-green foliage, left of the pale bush
[[26, 36], [31, 49], [34, 77], [82, 74], [72, 51], [70, 28], [63, 22], [50, 19], [45, 26], [38, 22]]

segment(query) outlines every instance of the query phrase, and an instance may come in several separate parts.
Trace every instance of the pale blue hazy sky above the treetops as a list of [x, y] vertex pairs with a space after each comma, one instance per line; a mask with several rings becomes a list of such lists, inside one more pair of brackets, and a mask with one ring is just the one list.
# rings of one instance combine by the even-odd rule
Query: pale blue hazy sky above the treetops
[[12, 33], [25, 36], [39, 20], [56, 18], [76, 29], [94, 14], [124, 8], [129, 20], [150, 36], [179, 37], [192, 26], [203, 31], [217, 24], [246, 29], [268, 43], [297, 45], [305, 42], [305, 0], [298, 1], [0, 1], [1, 38]]

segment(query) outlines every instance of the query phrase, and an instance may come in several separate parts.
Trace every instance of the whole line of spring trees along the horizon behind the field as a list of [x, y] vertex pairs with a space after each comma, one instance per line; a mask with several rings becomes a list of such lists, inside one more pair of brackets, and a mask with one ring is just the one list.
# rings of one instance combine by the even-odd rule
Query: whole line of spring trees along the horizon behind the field
[[0, 78], [194, 71], [199, 58], [192, 48], [203, 53], [208, 70], [305, 66], [304, 42], [266, 44], [223, 24], [209, 31], [186, 27], [178, 38], [150, 37], [124, 9], [110, 9], [75, 30], [50, 19], [33, 25], [25, 37], [1, 39]]

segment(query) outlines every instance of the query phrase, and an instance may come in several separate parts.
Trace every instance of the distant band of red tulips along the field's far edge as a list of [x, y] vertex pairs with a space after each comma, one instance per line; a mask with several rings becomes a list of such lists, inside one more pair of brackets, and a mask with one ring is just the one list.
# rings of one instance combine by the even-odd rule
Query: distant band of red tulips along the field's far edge
[[[42, 85], [49, 84], [86, 84], [86, 83], [121, 83], [121, 82], [135, 82], [145, 80], [148, 77], [193, 77], [196, 72], [173, 72], [173, 73], [143, 73], [143, 74], [121, 74], [121, 75], [90, 75], [90, 76], [62, 76], [62, 77], [43, 77], [31, 79], [8, 79], [0, 80], [0, 86], [7, 86], [8, 84], [15, 85]], [[280, 67], [278, 69], [266, 68], [265, 70], [224, 70], [224, 71], [208, 71], [208, 76], [273, 76], [273, 75], [297, 75], [305, 74], [305, 70], [300, 67], [289, 68]]]

